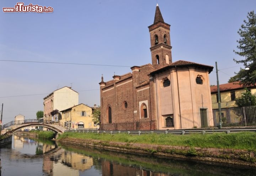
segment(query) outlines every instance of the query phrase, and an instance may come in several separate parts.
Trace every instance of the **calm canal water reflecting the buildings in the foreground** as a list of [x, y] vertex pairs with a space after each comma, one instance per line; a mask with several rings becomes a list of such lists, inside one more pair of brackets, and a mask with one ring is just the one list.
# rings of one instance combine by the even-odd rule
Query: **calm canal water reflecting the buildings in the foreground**
[[0, 176], [252, 176], [255, 168], [123, 154], [12, 136], [1, 148]]

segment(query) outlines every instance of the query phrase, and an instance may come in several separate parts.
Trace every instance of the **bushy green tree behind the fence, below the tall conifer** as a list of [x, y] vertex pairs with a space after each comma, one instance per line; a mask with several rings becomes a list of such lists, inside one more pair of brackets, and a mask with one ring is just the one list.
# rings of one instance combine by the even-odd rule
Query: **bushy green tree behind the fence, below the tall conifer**
[[256, 105], [256, 97], [251, 94], [251, 91], [245, 88], [245, 92], [242, 93], [242, 96], [236, 98], [236, 105], [238, 106], [255, 106]]

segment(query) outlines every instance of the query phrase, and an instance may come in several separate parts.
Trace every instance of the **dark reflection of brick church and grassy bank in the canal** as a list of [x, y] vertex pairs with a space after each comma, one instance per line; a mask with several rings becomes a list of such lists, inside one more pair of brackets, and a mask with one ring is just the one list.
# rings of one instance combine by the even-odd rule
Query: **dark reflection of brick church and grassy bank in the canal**
[[255, 168], [210, 165], [196, 161], [155, 158], [97, 148], [61, 144], [66, 150], [90, 156], [102, 176], [216, 176], [255, 175]]

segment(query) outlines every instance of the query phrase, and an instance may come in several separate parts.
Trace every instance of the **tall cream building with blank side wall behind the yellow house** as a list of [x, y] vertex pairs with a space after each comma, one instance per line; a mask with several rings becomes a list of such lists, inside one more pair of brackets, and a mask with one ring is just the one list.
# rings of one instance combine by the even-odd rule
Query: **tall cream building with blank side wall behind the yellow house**
[[51, 121], [52, 117], [50, 112], [55, 109], [62, 111], [78, 105], [78, 95], [78, 92], [65, 86], [44, 97], [44, 120]]

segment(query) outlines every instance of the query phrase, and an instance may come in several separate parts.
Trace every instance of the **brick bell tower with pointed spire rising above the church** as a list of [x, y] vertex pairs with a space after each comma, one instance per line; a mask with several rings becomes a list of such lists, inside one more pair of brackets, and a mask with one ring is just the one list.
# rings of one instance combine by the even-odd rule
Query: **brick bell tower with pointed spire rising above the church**
[[148, 27], [152, 65], [156, 69], [172, 63], [170, 26], [164, 22], [159, 6], [156, 4], [154, 24]]

